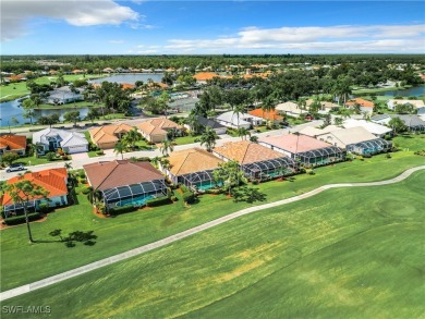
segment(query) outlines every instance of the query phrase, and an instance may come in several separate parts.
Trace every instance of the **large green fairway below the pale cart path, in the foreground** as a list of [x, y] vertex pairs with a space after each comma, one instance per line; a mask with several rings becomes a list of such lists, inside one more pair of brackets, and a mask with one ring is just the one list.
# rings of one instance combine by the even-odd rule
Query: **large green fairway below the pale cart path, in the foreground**
[[[393, 185], [330, 189], [2, 306], [49, 305], [54, 318], [420, 318], [424, 184], [421, 171]], [[174, 211], [170, 217], [178, 219]], [[70, 229], [75, 226], [74, 221]], [[138, 232], [145, 236], [146, 223]], [[95, 246], [60, 247], [62, 263], [72, 262], [77, 250], [85, 258], [96, 254], [107, 240], [96, 233]], [[110, 249], [127, 235], [125, 229], [110, 238]], [[45, 259], [50, 267], [35, 250], [40, 246], [16, 255]]]

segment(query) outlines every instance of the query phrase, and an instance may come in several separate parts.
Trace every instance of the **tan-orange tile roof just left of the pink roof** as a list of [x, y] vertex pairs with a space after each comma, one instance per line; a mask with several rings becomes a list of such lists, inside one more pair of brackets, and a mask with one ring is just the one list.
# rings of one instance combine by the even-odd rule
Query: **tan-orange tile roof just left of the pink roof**
[[216, 147], [214, 151], [228, 159], [235, 160], [240, 164], [284, 157], [283, 154], [248, 140], [228, 142], [221, 147]]

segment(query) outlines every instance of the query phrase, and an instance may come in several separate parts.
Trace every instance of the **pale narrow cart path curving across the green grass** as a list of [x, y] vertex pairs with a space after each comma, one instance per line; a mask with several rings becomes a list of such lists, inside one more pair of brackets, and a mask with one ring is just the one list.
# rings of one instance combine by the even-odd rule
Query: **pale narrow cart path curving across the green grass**
[[198, 226], [189, 229], [189, 230], [186, 230], [184, 232], [180, 232], [180, 233], [174, 234], [172, 236], [166, 237], [163, 240], [160, 240], [160, 241], [157, 241], [157, 242], [154, 242], [154, 243], [150, 243], [150, 244], [147, 244], [147, 245], [144, 245], [144, 246], [141, 246], [141, 247], [127, 250], [127, 251], [122, 253], [122, 254], [118, 254], [118, 255], [114, 255], [114, 256], [101, 259], [99, 261], [95, 261], [95, 262], [88, 263], [86, 266], [82, 266], [82, 267], [72, 269], [70, 271], [65, 271], [65, 272], [59, 273], [57, 275], [52, 275], [52, 277], [49, 277], [49, 278], [46, 278], [46, 279], [42, 279], [42, 280], [33, 282], [33, 283], [23, 285], [23, 286], [19, 286], [19, 287], [15, 287], [13, 290], [9, 290], [9, 291], [5, 291], [5, 292], [2, 292], [0, 294], [0, 300], [5, 300], [5, 299], [9, 299], [9, 298], [12, 298], [12, 297], [15, 297], [15, 296], [20, 296], [20, 295], [33, 292], [35, 290], [45, 287], [45, 286], [49, 286], [49, 285], [59, 283], [59, 282], [61, 282], [63, 280], [66, 280], [66, 279], [70, 279], [70, 278], [73, 278], [73, 277], [76, 277], [76, 275], [89, 272], [89, 271], [98, 269], [100, 267], [112, 265], [114, 262], [122, 261], [122, 260], [125, 260], [125, 259], [129, 259], [129, 258], [142, 255], [144, 253], [147, 253], [147, 251], [150, 251], [153, 249], [156, 249], [156, 248], [169, 245], [171, 243], [174, 243], [174, 242], [178, 242], [178, 241], [183, 240], [185, 237], [192, 236], [192, 235], [194, 235], [196, 233], [199, 233], [202, 231], [211, 229], [211, 228], [220, 225], [220, 224], [222, 224], [224, 222], [228, 222], [228, 221], [231, 221], [233, 219], [236, 219], [236, 218], [239, 218], [241, 216], [245, 216], [245, 214], [258, 211], [258, 210], [268, 209], [268, 208], [272, 208], [272, 207], [277, 207], [277, 206], [294, 203], [294, 201], [298, 201], [298, 200], [302, 200], [304, 198], [312, 197], [312, 196], [314, 196], [316, 194], [319, 194], [319, 193], [321, 193], [324, 191], [327, 191], [327, 189], [330, 189], [330, 188], [380, 186], [380, 185], [393, 184], [393, 183], [398, 183], [400, 181], [403, 181], [404, 179], [409, 177], [412, 173], [414, 173], [416, 171], [420, 171], [420, 170], [425, 170], [425, 165], [409, 169], [409, 170], [404, 171], [403, 173], [401, 173], [400, 175], [398, 175], [397, 177], [393, 177], [391, 180], [386, 180], [386, 181], [380, 181], [380, 182], [369, 182], [369, 183], [329, 184], [329, 185], [320, 186], [320, 187], [315, 188], [315, 189], [313, 189], [311, 192], [307, 192], [307, 193], [304, 193], [304, 194], [301, 194], [301, 195], [298, 195], [298, 196], [294, 196], [294, 197], [290, 197], [290, 198], [287, 198], [287, 199], [282, 199], [282, 200], [278, 200], [278, 201], [274, 201], [274, 203], [269, 203], [269, 204], [264, 204], [264, 205], [259, 205], [259, 206], [245, 208], [245, 209], [239, 210], [236, 212], [230, 213], [228, 216], [215, 219], [215, 220], [209, 221], [207, 223], [201, 224]]

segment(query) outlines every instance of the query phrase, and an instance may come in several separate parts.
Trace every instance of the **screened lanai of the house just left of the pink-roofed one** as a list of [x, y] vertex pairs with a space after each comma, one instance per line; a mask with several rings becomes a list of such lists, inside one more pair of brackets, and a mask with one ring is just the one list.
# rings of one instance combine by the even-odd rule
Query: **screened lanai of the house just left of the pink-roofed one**
[[292, 174], [296, 171], [296, 162], [289, 157], [267, 159], [241, 165], [245, 176], [251, 180], [264, 181]]

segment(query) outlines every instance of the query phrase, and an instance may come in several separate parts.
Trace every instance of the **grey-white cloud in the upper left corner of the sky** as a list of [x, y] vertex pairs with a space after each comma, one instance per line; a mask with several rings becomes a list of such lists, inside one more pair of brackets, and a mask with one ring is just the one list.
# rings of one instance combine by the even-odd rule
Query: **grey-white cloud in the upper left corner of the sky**
[[136, 22], [142, 16], [129, 7], [112, 0], [2, 0], [1, 40], [9, 40], [28, 33], [31, 19], [64, 20], [74, 26], [120, 25]]

